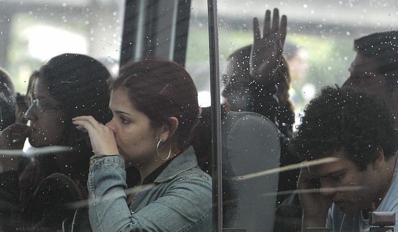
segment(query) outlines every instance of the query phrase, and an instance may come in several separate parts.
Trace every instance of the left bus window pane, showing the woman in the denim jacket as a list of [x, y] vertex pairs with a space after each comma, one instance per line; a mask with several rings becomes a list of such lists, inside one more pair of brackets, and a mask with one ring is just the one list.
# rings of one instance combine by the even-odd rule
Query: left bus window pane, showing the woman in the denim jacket
[[1, 6], [0, 230], [211, 231], [210, 59], [193, 59], [206, 35], [188, 45], [191, 1]]

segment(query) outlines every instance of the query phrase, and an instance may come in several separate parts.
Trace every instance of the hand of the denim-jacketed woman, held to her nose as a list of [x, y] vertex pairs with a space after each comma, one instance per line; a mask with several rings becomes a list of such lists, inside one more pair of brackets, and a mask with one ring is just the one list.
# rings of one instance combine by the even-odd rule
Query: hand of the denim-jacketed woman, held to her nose
[[98, 122], [93, 116], [79, 116], [72, 120], [78, 130], [89, 133], [94, 154], [119, 154], [112, 129]]

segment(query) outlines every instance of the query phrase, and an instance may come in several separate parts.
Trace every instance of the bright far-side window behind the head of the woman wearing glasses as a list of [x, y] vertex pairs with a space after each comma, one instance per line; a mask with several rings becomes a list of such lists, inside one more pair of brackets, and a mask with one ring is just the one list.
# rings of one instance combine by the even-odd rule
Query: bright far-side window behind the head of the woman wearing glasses
[[0, 11], [0, 66], [18, 92], [33, 70], [62, 53], [92, 56], [113, 74], [119, 67], [124, 1], [2, 1]]

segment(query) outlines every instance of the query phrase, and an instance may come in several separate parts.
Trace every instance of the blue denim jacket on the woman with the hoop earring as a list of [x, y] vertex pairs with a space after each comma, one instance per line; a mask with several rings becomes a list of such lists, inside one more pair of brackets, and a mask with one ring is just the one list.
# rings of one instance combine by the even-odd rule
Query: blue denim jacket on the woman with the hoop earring
[[120, 155], [94, 155], [88, 180], [94, 232], [207, 232], [212, 230], [211, 177], [192, 147], [175, 157], [128, 208], [126, 172]]

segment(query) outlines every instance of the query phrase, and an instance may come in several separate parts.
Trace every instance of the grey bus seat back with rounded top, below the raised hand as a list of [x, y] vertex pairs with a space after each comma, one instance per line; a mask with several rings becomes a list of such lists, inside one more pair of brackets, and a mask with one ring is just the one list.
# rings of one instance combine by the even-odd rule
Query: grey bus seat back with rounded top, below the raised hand
[[278, 129], [260, 114], [231, 111], [221, 122], [221, 137], [223, 228], [272, 231], [281, 154]]

